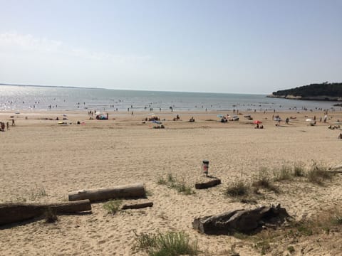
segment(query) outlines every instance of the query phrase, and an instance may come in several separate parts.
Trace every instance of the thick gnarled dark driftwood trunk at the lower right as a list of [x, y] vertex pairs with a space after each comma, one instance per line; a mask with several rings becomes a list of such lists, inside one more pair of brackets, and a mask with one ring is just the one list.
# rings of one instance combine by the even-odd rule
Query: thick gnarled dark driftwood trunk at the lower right
[[219, 215], [195, 218], [192, 227], [208, 235], [252, 233], [263, 225], [280, 225], [289, 217], [285, 208], [261, 206], [254, 210], [232, 210]]

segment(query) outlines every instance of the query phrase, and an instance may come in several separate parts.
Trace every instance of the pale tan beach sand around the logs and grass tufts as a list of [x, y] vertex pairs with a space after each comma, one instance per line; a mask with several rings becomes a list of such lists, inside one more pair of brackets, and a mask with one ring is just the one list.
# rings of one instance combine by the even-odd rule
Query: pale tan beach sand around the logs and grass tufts
[[[0, 120], [11, 113], [1, 113]], [[69, 112], [71, 125], [58, 125], [61, 113], [39, 112], [15, 115], [16, 127], [0, 132], [0, 203], [9, 201], [67, 201], [68, 192], [81, 188], [112, 187], [143, 182], [152, 208], [125, 210], [109, 215], [103, 203], [94, 203], [91, 214], [62, 215], [57, 223], [43, 220], [0, 227], [0, 255], [145, 255], [132, 247], [137, 233], [180, 231], [197, 239], [202, 255], [227, 255], [236, 243], [240, 255], [259, 255], [251, 242], [218, 235], [208, 236], [192, 229], [195, 217], [223, 213], [236, 208], [254, 208], [253, 204], [232, 201], [223, 195], [227, 184], [240, 178], [252, 180], [261, 167], [270, 171], [283, 164], [302, 161], [334, 166], [342, 164], [341, 130], [328, 129], [341, 112], [328, 114], [328, 123], [314, 127], [307, 117], [322, 112], [281, 112], [283, 119], [294, 117], [290, 124], [271, 121], [274, 113], [249, 113], [259, 119], [264, 129], [239, 115], [238, 122], [222, 124], [216, 112], [158, 113], [165, 129], [142, 124], [147, 113], [110, 112], [110, 120], [89, 120], [82, 112]], [[232, 114], [232, 113], [231, 113]], [[194, 116], [195, 123], [187, 122]], [[306, 117], [307, 116], [307, 117]], [[28, 117], [25, 119], [24, 117]], [[115, 119], [113, 119], [115, 117]], [[265, 119], [267, 118], [267, 119]], [[77, 121], [86, 122], [77, 125]], [[209, 160], [209, 174], [222, 179], [222, 185], [185, 196], [172, 188], [157, 184], [167, 174], [184, 179], [190, 186], [202, 178], [201, 163]], [[305, 181], [276, 183], [281, 193], [264, 191], [257, 205], [281, 203], [296, 220], [311, 218], [323, 209], [341, 205], [341, 176], [326, 186]], [[46, 196], [43, 195], [46, 192]], [[342, 238], [318, 235], [299, 238], [294, 255], [341, 255]], [[283, 255], [289, 241], [272, 245], [269, 255]], [[285, 255], [285, 254], [284, 254]]]

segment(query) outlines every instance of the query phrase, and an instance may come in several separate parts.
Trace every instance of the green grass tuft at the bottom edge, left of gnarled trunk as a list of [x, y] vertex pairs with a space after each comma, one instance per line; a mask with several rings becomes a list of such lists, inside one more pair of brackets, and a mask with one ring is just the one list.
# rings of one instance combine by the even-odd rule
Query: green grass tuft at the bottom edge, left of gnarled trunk
[[197, 255], [197, 241], [190, 243], [189, 235], [183, 232], [165, 234], [136, 234], [135, 249], [145, 250], [150, 256]]

